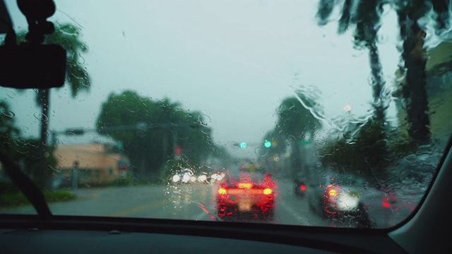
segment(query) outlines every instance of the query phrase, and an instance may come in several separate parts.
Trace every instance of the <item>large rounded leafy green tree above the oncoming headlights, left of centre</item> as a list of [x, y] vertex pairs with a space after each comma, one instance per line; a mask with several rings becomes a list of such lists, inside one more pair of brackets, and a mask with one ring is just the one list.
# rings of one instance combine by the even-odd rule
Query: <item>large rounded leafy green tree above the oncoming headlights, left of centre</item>
[[167, 161], [174, 159], [177, 146], [182, 159], [199, 164], [220, 150], [203, 125], [202, 114], [188, 112], [168, 98], [153, 101], [136, 92], [109, 95], [97, 119], [97, 131], [121, 141], [124, 152], [140, 176], [162, 176]]

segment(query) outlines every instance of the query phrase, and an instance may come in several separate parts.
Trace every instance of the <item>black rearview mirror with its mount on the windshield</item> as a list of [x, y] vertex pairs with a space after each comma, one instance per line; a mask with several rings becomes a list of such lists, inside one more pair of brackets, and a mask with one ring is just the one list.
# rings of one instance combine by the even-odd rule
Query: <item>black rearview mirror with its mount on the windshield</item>
[[[1, 6], [5, 6], [1, 1]], [[48, 89], [62, 87], [66, 80], [66, 50], [57, 44], [42, 44], [44, 35], [54, 32], [53, 23], [47, 21], [56, 10], [52, 0], [18, 0], [20, 11], [28, 21], [28, 42], [17, 45], [8, 11], [1, 12], [7, 33], [0, 46], [0, 86], [16, 89]], [[5, 8], [6, 9], [6, 8]], [[6, 25], [6, 28], [5, 28]]]

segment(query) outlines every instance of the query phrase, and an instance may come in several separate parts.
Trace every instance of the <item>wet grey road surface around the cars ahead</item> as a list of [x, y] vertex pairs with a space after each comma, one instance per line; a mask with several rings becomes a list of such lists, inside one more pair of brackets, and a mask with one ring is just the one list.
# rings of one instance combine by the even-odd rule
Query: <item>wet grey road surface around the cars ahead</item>
[[[293, 184], [278, 184], [276, 224], [331, 226], [309, 211], [307, 200], [294, 195]], [[217, 220], [215, 184], [191, 183], [179, 186], [126, 186], [81, 188], [77, 199], [50, 203], [52, 214], [156, 219]], [[35, 214], [30, 206], [2, 209], [0, 213]]]

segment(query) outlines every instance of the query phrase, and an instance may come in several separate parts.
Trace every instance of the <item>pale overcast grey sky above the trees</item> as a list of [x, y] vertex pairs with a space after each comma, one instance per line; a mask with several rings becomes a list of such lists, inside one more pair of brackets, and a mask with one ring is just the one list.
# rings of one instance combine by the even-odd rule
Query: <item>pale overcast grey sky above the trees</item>
[[[26, 28], [16, 1], [6, 1], [17, 29]], [[353, 49], [352, 33], [337, 22], [319, 27], [315, 0], [56, 1], [53, 21], [81, 26], [89, 52], [89, 93], [72, 99], [52, 90], [50, 129], [95, 128], [111, 92], [135, 90], [169, 97], [201, 111], [216, 143], [260, 143], [275, 126], [280, 102], [299, 87], [316, 87], [327, 119], [351, 106], [369, 115], [367, 50]], [[398, 63], [397, 28], [388, 11], [381, 29], [381, 61], [388, 87]], [[24, 135], [38, 134], [35, 92], [0, 88]], [[35, 126], [35, 128], [33, 128]], [[333, 126], [326, 126], [326, 128]]]

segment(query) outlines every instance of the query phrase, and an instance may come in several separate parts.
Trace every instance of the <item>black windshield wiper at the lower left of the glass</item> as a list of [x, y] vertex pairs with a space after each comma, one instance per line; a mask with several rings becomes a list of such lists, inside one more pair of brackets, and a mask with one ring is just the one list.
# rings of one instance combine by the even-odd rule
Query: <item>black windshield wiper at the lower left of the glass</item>
[[19, 167], [4, 152], [0, 152], [0, 162], [3, 164], [6, 175], [22, 191], [25, 198], [35, 207], [37, 214], [42, 217], [52, 216], [44, 194], [36, 184], [19, 169]]

